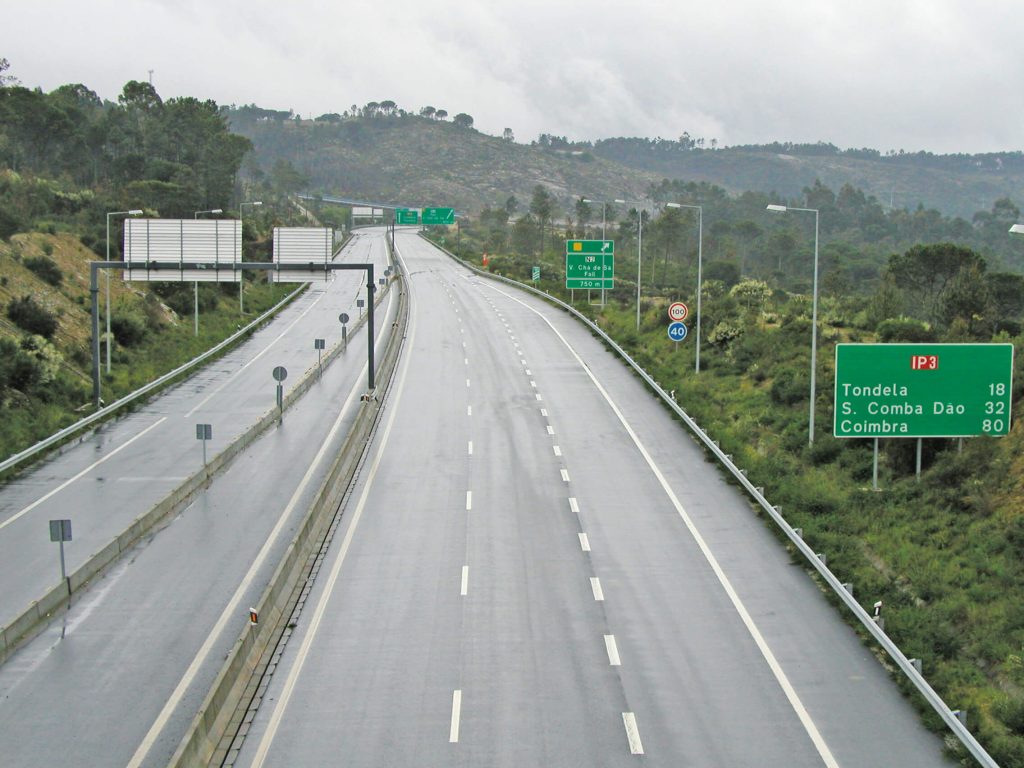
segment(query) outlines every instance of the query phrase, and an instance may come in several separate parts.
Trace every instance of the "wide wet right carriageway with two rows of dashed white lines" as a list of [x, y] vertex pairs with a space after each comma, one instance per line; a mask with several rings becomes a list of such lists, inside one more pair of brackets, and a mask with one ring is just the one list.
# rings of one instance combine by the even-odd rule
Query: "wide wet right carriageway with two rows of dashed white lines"
[[621, 360], [397, 246], [411, 321], [383, 423], [229, 764], [948, 765]]

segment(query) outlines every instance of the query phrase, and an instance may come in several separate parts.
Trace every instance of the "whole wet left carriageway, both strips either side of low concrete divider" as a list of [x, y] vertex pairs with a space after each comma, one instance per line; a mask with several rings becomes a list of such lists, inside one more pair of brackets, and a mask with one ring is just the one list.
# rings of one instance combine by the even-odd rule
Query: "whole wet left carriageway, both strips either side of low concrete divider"
[[[343, 257], [383, 267], [382, 230], [356, 237]], [[312, 339], [338, 341], [338, 314], [357, 316], [364, 285], [346, 271], [313, 287], [229, 355], [5, 487], [5, 586], [31, 594], [55, 581], [47, 517], [73, 518], [68, 552], [84, 556], [202, 462], [195, 422], [214, 425], [211, 457], [255, 422], [274, 402], [270, 370], [285, 365], [291, 386], [315, 366]], [[378, 348], [395, 304], [389, 291]], [[0, 764], [167, 764], [347, 433], [366, 360], [364, 329], [280, 426], [0, 667]], [[3, 604], [24, 607], [7, 594]]]

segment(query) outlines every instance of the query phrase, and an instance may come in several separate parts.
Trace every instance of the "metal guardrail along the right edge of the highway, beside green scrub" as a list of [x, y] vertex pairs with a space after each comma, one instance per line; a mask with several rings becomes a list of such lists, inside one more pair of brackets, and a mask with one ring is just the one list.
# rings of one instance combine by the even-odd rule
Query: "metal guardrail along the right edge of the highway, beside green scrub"
[[[424, 238], [424, 240], [426, 240], [426, 238]], [[921, 692], [921, 694], [925, 697], [925, 699], [932, 707], [932, 709], [935, 710], [936, 714], [938, 714], [938, 716], [942, 718], [942, 721], [949, 727], [949, 730], [951, 730], [953, 735], [955, 735], [956, 738], [959, 739], [959, 741], [964, 744], [967, 751], [971, 753], [971, 755], [975, 758], [975, 760], [977, 760], [978, 763], [984, 766], [985, 768], [999, 768], [998, 763], [996, 763], [995, 760], [992, 759], [992, 757], [985, 751], [985, 748], [983, 748], [974, 737], [971, 731], [967, 729], [967, 726], [965, 726], [964, 723], [962, 723], [961, 720], [956, 717], [956, 715], [953, 714], [953, 711], [949, 708], [949, 706], [946, 705], [946, 702], [942, 699], [942, 697], [935, 692], [935, 689], [932, 688], [931, 685], [929, 685], [928, 681], [925, 679], [922, 673], [918, 672], [918, 669], [910, 663], [910, 659], [907, 658], [907, 656], [903, 653], [903, 651], [900, 650], [899, 646], [892, 641], [892, 639], [885, 633], [885, 631], [878, 624], [876, 624], [872, 616], [869, 615], [868, 612], [864, 610], [863, 607], [861, 607], [860, 603], [858, 603], [853, 598], [853, 595], [850, 593], [850, 591], [843, 586], [843, 583], [840, 582], [840, 580], [836, 577], [836, 574], [833, 573], [833, 571], [828, 568], [827, 565], [825, 565], [825, 563], [818, 556], [818, 554], [813, 549], [811, 549], [811, 547], [803, 540], [800, 534], [798, 534], [797, 530], [792, 525], [790, 525], [790, 523], [785, 520], [785, 518], [782, 517], [782, 514], [778, 511], [778, 509], [776, 509], [774, 506], [772, 506], [771, 503], [769, 503], [769, 501], [765, 498], [761, 489], [755, 486], [754, 483], [752, 483], [746, 478], [746, 474], [741, 469], [739, 469], [735, 464], [733, 464], [732, 459], [730, 459], [729, 456], [725, 452], [723, 452], [721, 447], [719, 447], [718, 443], [715, 442], [715, 440], [713, 440], [709, 436], [708, 432], [705, 429], [702, 429], [685, 411], [683, 411], [683, 409], [680, 408], [679, 403], [677, 403], [674, 399], [672, 399], [669, 393], [666, 392], [656, 381], [654, 381], [654, 379], [650, 376], [650, 374], [644, 371], [644, 369], [641, 368], [640, 365], [637, 364], [636, 360], [634, 360], [629, 355], [629, 353], [626, 352], [625, 349], [618, 346], [618, 344], [616, 344], [615, 341], [610, 336], [608, 336], [590, 318], [588, 318], [586, 315], [578, 311], [574, 307], [570, 306], [569, 304], [566, 304], [564, 301], [561, 301], [560, 299], [557, 299], [554, 296], [545, 293], [544, 291], [540, 291], [529, 285], [526, 285], [525, 283], [520, 283], [518, 281], [511, 280], [510, 278], [505, 278], [500, 274], [492, 274], [490, 272], [485, 272], [482, 269], [478, 269], [472, 264], [463, 261], [458, 256], [453, 254], [451, 251], [441, 248], [440, 246], [431, 241], [427, 242], [429, 242], [434, 247], [438, 248], [443, 253], [451, 256], [453, 259], [455, 259], [463, 266], [476, 272], [477, 274], [489, 278], [490, 280], [507, 283], [523, 291], [528, 291], [529, 293], [540, 296], [542, 299], [545, 299], [546, 301], [549, 301], [555, 304], [556, 306], [561, 307], [562, 309], [566, 310], [574, 317], [577, 317], [577, 319], [584, 323], [593, 333], [599, 336], [605, 342], [605, 344], [611, 347], [611, 349], [613, 349], [616, 354], [618, 354], [624, 360], [626, 360], [626, 362], [629, 364], [629, 366], [637, 373], [637, 375], [644, 380], [647, 386], [650, 387], [662, 398], [665, 404], [668, 406], [670, 409], [672, 409], [676, 413], [676, 415], [683, 420], [683, 423], [685, 423], [686, 426], [689, 427], [690, 431], [693, 432], [693, 434], [703, 444], [703, 446], [715, 455], [715, 458], [717, 458], [719, 462], [722, 464], [722, 466], [729, 471], [729, 473], [733, 476], [733, 478], [735, 478], [735, 480], [740, 485], [743, 486], [743, 488], [746, 490], [746, 493], [751, 495], [754, 501], [756, 501], [758, 505], [765, 512], [768, 513], [768, 515], [772, 518], [772, 520], [775, 521], [775, 524], [778, 525], [779, 529], [783, 534], [785, 534], [786, 538], [791, 541], [791, 543], [807, 559], [807, 561], [825, 581], [825, 583], [831, 588], [831, 590], [836, 593], [836, 595], [840, 598], [840, 600], [843, 601], [846, 607], [850, 609], [850, 612], [852, 612], [854, 616], [856, 616], [857, 621], [860, 622], [860, 624], [864, 627], [865, 630], [867, 630], [868, 634], [870, 634], [871, 637], [874, 638], [874, 640], [879, 643], [879, 645], [882, 646], [882, 648], [886, 651], [889, 657], [892, 658], [892, 660], [896, 664], [897, 667], [899, 667], [900, 671]]]

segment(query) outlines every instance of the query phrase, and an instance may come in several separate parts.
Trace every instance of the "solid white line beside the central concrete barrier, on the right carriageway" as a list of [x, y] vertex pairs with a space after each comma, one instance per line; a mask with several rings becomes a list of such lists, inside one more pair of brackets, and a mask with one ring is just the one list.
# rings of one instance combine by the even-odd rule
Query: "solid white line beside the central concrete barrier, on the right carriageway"
[[[402, 265], [402, 271], [408, 274], [408, 270], [404, 268], [404, 265]], [[412, 349], [413, 341], [416, 337], [416, 315], [413, 312], [413, 304], [415, 303], [415, 300], [412, 284], [410, 284], [406, 290], [410, 303], [409, 333], [406, 338], [406, 343], [409, 344], [409, 348]], [[325, 584], [324, 592], [321, 594], [319, 600], [316, 602], [316, 608], [309, 621], [309, 629], [302, 638], [302, 644], [299, 646], [295, 662], [293, 663], [292, 669], [289, 670], [288, 678], [285, 680], [285, 686], [281, 692], [281, 697], [274, 702], [273, 712], [270, 714], [270, 720], [267, 723], [266, 730], [263, 731], [263, 737], [260, 739], [259, 746], [256, 750], [256, 756], [253, 758], [250, 768], [261, 768], [266, 760], [267, 753], [270, 750], [270, 744], [278, 735], [278, 729], [281, 727], [281, 721], [285, 716], [285, 710], [288, 708], [292, 694], [295, 692], [295, 685], [298, 682], [299, 675], [302, 673], [302, 668], [305, 666], [306, 657], [309, 655], [309, 649], [312, 647], [313, 640], [316, 638], [321, 622], [324, 621], [324, 613], [327, 610], [327, 604], [330, 602], [331, 596], [334, 594], [334, 587], [338, 583], [338, 577], [341, 573], [341, 566], [345, 562], [345, 558], [348, 555], [348, 548], [352, 544], [352, 537], [355, 536], [355, 529], [358, 527], [359, 519], [362, 517], [362, 510], [367, 506], [367, 499], [370, 497], [370, 490], [373, 487], [374, 478], [377, 476], [378, 469], [380, 469], [381, 460], [384, 456], [384, 451], [387, 447], [388, 438], [391, 436], [391, 427], [394, 426], [394, 418], [398, 411], [398, 403], [401, 401], [401, 395], [406, 389], [406, 378], [408, 374], [409, 355], [402, 355], [401, 373], [398, 376], [397, 386], [395, 387], [394, 399], [387, 403], [389, 411], [387, 424], [384, 426], [380, 443], [377, 446], [377, 454], [374, 456], [373, 465], [370, 467], [370, 472], [368, 473], [366, 482], [362, 485], [362, 493], [359, 495], [359, 500], [355, 505], [355, 510], [352, 512], [352, 520], [348, 524], [348, 529], [345, 531], [345, 538], [341, 542], [341, 548], [338, 551], [338, 555], [335, 558], [334, 563], [331, 565], [331, 572], [328, 575], [327, 583]]]

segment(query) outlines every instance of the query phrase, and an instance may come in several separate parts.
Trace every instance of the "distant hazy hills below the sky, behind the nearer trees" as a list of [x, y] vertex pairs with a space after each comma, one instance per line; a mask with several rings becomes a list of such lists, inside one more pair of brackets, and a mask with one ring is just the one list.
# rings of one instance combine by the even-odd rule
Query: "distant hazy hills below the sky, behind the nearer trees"
[[1024, 200], [1024, 156], [883, 155], [831, 144], [768, 144], [706, 150], [688, 139], [609, 138], [570, 142], [542, 135], [529, 144], [472, 127], [402, 113], [316, 120], [258, 108], [225, 110], [249, 138], [259, 165], [288, 161], [314, 191], [409, 205], [454, 205], [469, 212], [528, 200], [543, 184], [564, 210], [574, 200], [637, 199], [663, 179], [705, 181], [738, 195], [799, 199], [815, 180], [845, 184], [886, 208], [919, 205], [968, 220], [994, 201]]

